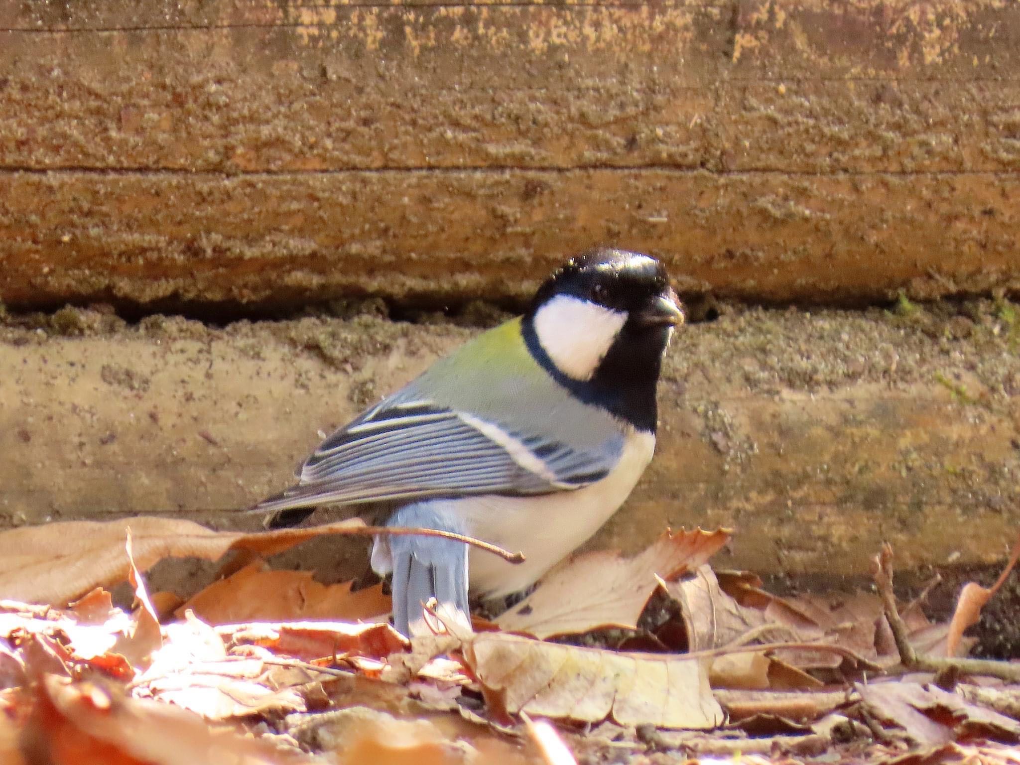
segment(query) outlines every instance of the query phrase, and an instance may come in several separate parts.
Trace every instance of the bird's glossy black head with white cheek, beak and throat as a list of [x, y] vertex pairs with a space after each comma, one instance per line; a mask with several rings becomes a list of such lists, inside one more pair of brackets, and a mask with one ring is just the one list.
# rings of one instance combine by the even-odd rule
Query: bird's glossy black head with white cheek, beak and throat
[[601, 249], [550, 276], [523, 326], [540, 363], [574, 395], [654, 430], [662, 356], [682, 320], [662, 263]]

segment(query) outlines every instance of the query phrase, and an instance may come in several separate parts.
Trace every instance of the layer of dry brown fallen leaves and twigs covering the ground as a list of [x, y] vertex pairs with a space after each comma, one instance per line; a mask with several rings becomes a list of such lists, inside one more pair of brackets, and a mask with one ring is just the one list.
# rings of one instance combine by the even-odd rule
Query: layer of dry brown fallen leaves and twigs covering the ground
[[[780, 598], [710, 567], [727, 531], [666, 532], [630, 558], [578, 556], [484, 629], [438, 621], [409, 642], [377, 588], [266, 569], [257, 553], [291, 537], [174, 523], [0, 533], [23, 586], [48, 537], [65, 556], [37, 603], [0, 601], [0, 762], [1017, 762], [1015, 668], [949, 657], [949, 625], [892, 598], [888, 552], [877, 594]], [[69, 526], [89, 531], [74, 550]], [[160, 557], [239, 546], [245, 564], [154, 607]], [[100, 588], [66, 602], [93, 560], [131, 580], [134, 611]]]

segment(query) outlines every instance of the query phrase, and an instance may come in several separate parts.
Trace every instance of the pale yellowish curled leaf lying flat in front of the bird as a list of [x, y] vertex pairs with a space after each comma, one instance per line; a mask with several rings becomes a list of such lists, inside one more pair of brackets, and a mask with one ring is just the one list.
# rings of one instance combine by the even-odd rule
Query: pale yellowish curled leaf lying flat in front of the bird
[[722, 721], [704, 665], [669, 654], [625, 654], [483, 632], [464, 657], [510, 714], [620, 725], [711, 728]]

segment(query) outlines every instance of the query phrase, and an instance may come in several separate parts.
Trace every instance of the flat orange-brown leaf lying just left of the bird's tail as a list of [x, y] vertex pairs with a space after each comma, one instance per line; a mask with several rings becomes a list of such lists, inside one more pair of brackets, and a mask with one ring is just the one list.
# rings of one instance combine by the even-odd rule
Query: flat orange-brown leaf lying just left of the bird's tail
[[351, 582], [321, 584], [310, 571], [272, 571], [262, 562], [249, 564], [215, 581], [186, 604], [186, 610], [210, 624], [299, 619], [381, 621], [391, 609], [382, 585], [351, 592]]

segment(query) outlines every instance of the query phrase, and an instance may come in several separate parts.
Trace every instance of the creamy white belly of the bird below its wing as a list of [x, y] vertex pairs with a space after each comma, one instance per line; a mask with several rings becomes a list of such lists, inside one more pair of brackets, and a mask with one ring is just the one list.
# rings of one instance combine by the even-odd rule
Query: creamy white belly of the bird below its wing
[[524, 553], [514, 565], [471, 549], [468, 581], [472, 593], [498, 597], [523, 590], [572, 553], [619, 509], [652, 459], [655, 437], [632, 432], [620, 461], [596, 483], [546, 497], [474, 497], [452, 500], [452, 517], [465, 533]]

